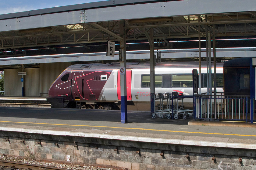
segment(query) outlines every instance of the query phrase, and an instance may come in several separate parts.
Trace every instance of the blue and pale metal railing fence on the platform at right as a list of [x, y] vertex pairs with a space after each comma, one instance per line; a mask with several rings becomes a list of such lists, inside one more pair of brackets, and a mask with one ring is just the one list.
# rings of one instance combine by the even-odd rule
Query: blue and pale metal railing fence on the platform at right
[[195, 120], [228, 120], [255, 122], [255, 100], [245, 95], [195, 95]]

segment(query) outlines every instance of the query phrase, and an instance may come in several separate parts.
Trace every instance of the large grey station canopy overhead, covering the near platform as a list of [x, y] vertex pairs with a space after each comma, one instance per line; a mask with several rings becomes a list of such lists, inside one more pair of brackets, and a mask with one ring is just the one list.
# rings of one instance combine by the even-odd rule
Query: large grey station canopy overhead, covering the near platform
[[[216, 37], [217, 48], [256, 47], [255, 0], [120, 0], [69, 5], [0, 15], [0, 58], [126, 50], [198, 49], [198, 37]], [[214, 34], [213, 34], [214, 33]], [[201, 43], [205, 48], [206, 43]]]

